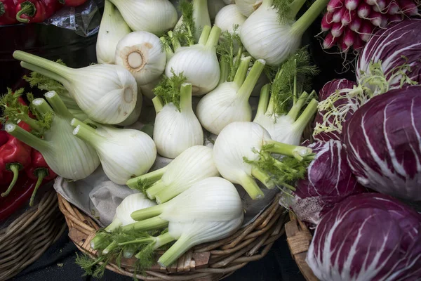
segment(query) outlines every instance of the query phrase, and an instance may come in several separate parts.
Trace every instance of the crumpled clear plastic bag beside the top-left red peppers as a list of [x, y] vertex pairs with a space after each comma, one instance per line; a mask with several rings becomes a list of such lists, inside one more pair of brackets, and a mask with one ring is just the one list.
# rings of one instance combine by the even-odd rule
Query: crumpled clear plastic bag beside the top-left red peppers
[[85, 4], [77, 7], [65, 6], [44, 23], [66, 30], [74, 30], [80, 36], [89, 37], [100, 29], [100, 8], [103, 6], [103, 0], [88, 0]]

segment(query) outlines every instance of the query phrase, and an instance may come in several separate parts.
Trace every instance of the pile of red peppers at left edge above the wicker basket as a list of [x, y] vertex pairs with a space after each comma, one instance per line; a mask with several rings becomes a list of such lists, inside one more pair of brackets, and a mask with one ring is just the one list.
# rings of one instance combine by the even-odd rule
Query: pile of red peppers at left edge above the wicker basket
[[[25, 105], [22, 98], [19, 98], [19, 102]], [[31, 130], [25, 122], [19, 122], [18, 126]], [[13, 214], [29, 197], [29, 205], [32, 206], [41, 183], [51, 181], [56, 176], [40, 152], [6, 131], [0, 131], [0, 221]]]

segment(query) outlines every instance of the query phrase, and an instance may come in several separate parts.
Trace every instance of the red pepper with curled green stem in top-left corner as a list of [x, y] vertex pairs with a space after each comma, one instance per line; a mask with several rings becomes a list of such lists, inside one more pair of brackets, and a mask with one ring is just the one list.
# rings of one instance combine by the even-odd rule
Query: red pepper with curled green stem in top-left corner
[[58, 11], [62, 4], [58, 0], [17, 0], [16, 20], [19, 22], [44, 22]]

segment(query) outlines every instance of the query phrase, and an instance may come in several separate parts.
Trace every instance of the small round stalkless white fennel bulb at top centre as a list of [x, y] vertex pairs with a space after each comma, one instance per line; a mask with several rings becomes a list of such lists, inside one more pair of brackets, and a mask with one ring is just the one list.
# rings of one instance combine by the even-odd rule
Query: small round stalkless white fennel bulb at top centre
[[246, 21], [246, 17], [240, 13], [238, 6], [232, 4], [222, 8], [215, 18], [215, 25], [220, 27], [222, 32], [234, 32], [234, 27], [238, 26], [236, 32], [241, 30], [241, 25]]

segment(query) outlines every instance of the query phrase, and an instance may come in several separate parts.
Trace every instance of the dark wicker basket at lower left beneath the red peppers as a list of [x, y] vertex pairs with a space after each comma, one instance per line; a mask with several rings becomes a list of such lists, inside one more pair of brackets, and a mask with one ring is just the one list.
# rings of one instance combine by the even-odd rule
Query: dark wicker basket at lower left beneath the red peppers
[[44, 254], [66, 229], [51, 188], [39, 204], [0, 230], [0, 280], [8, 280]]

